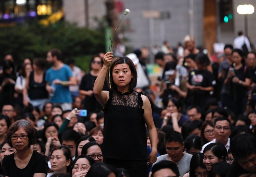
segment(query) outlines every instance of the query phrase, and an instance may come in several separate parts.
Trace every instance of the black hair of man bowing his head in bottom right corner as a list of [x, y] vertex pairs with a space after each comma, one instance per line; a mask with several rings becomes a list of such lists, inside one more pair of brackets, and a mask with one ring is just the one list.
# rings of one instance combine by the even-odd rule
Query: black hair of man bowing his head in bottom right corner
[[255, 154], [255, 136], [249, 133], [234, 136], [230, 141], [230, 150], [235, 159], [246, 159], [248, 156]]

